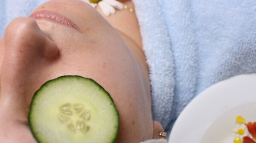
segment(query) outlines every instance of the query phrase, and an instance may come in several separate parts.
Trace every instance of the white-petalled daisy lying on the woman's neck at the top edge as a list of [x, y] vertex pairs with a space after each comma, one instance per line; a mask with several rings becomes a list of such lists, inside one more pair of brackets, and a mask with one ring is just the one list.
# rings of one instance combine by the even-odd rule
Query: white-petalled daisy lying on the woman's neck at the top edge
[[86, 3], [89, 3], [94, 8], [99, 5], [99, 7], [102, 9], [103, 13], [106, 16], [109, 16], [110, 14], [114, 14], [116, 12], [116, 9], [124, 8], [123, 4], [116, 0], [83, 0], [83, 1]]

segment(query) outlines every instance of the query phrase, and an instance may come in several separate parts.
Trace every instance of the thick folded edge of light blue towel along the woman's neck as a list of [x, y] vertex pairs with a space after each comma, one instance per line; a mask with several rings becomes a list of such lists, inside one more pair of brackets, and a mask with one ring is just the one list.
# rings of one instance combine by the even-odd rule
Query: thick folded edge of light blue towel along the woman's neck
[[[160, 0], [161, 1], [161, 0]], [[175, 89], [175, 61], [161, 3], [158, 0], [133, 0], [143, 37], [151, 80], [154, 119], [166, 129], [171, 121]]]

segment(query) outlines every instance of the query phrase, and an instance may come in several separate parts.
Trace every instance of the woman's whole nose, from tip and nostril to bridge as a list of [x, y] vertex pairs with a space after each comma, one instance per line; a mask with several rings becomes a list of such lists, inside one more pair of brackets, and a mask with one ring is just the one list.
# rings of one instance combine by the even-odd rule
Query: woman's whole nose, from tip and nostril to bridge
[[32, 18], [13, 20], [4, 35], [4, 57], [0, 95], [26, 96], [52, 62], [59, 57], [57, 45]]

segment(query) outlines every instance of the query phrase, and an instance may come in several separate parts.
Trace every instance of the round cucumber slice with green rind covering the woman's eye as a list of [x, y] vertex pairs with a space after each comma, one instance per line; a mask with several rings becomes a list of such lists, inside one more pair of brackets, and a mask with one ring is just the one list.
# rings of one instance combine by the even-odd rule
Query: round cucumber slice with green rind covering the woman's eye
[[114, 143], [119, 113], [93, 79], [61, 76], [36, 91], [29, 125], [38, 143]]

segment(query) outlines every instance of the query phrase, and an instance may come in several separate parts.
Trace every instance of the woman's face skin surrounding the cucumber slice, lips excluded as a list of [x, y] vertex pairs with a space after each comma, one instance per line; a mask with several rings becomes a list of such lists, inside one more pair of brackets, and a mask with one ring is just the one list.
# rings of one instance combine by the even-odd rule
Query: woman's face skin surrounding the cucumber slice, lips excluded
[[33, 13], [41, 10], [58, 12], [77, 28], [28, 17], [17, 18], [6, 28], [0, 39], [1, 143], [36, 143], [27, 123], [32, 96], [46, 81], [64, 75], [94, 79], [110, 93], [120, 114], [116, 143], [151, 139], [150, 95], [119, 34], [80, 0], [52, 0]]

